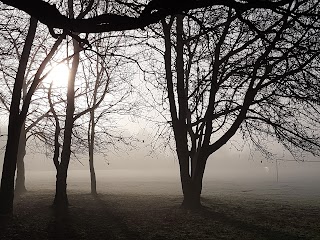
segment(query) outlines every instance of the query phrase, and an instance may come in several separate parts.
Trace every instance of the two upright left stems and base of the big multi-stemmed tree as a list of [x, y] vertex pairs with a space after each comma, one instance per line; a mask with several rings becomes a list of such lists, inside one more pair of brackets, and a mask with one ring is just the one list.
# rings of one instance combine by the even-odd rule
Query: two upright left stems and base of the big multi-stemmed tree
[[[179, 111], [176, 108], [174, 84], [172, 77], [172, 44], [171, 44], [171, 27], [173, 26], [173, 19], [166, 23], [162, 21], [164, 36], [165, 36], [165, 69], [166, 69], [166, 81], [168, 87], [168, 98], [170, 106], [170, 114], [172, 119], [172, 127], [174, 131], [174, 137], [176, 142], [176, 151], [178, 155], [178, 161], [180, 166], [180, 180], [183, 192], [182, 207], [187, 209], [200, 208], [200, 195], [202, 190], [202, 178], [204, 173], [204, 167], [199, 168], [197, 165], [199, 161], [191, 161], [190, 153], [188, 150], [187, 140], [187, 107], [188, 100], [185, 93], [185, 78], [184, 78], [184, 64], [183, 64], [183, 16], [177, 16], [176, 31], [177, 31], [177, 45], [175, 47], [176, 56], [176, 73], [177, 73], [177, 98]], [[179, 112], [179, 116], [178, 116]], [[191, 167], [190, 167], [191, 166]], [[199, 165], [200, 166], [200, 165]], [[191, 171], [192, 169], [192, 171]]]

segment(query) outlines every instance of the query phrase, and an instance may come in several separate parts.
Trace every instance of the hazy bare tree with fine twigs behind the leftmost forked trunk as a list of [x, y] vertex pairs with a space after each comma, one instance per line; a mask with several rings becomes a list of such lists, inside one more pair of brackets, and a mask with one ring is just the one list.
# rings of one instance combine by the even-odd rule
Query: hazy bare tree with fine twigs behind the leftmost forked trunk
[[[1, 55], [0, 70], [3, 76], [1, 79], [3, 87], [0, 94], [0, 100], [2, 103], [1, 110], [3, 110], [1, 111], [1, 115], [5, 117], [8, 116], [10, 112], [12, 88], [15, 81], [14, 75], [16, 74], [18, 63], [21, 59], [23, 41], [25, 40], [24, 35], [26, 35], [28, 26], [25, 26], [27, 23], [27, 16], [25, 14], [19, 14], [16, 10], [3, 11], [1, 17], [6, 21], [5, 27], [1, 29], [1, 36], [3, 36], [3, 54]], [[15, 26], [17, 22], [19, 23], [18, 26]], [[22, 102], [27, 95], [28, 88], [32, 84], [33, 74], [36, 70], [35, 68], [40, 64], [37, 58], [40, 58], [43, 55], [43, 52], [46, 51], [46, 44], [49, 45], [50, 40], [52, 39], [50, 39], [46, 31], [43, 31], [43, 26], [38, 27], [37, 34], [33, 41], [34, 48], [30, 51], [22, 83]], [[43, 101], [43, 96], [33, 97], [32, 103], [34, 105], [39, 105], [36, 103], [37, 101]], [[28, 112], [26, 120], [23, 122], [17, 158], [17, 174], [15, 183], [16, 194], [26, 191], [24, 157], [26, 155], [27, 139], [30, 139], [32, 135], [37, 134], [33, 131], [35, 125], [47, 115], [48, 111], [42, 111], [42, 107], [33, 107], [31, 111]]]

